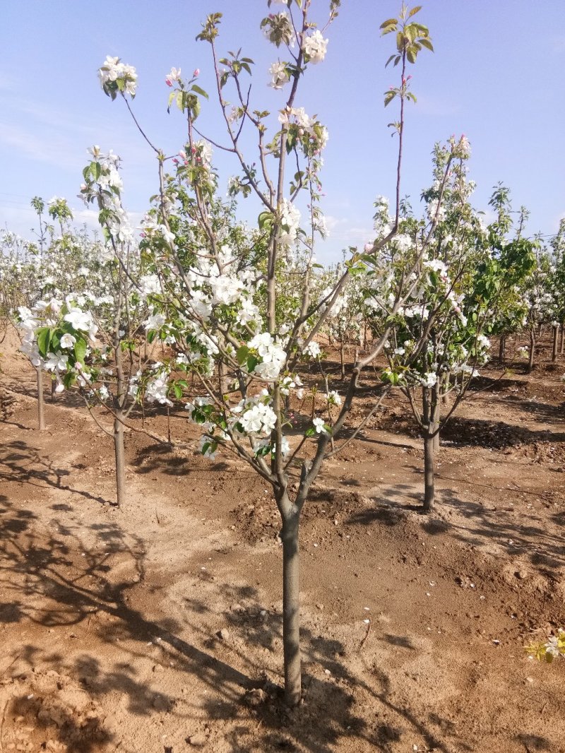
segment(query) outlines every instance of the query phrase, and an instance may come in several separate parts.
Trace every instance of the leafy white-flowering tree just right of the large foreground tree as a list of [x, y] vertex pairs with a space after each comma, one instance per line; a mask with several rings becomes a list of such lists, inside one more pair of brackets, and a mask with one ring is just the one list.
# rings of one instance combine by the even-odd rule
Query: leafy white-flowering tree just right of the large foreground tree
[[[386, 383], [408, 397], [424, 443], [424, 511], [432, 508], [434, 454], [439, 432], [466, 395], [475, 367], [487, 359], [483, 330], [489, 296], [477, 285], [478, 264], [488, 258], [481, 220], [469, 203], [475, 184], [466, 179], [469, 142], [453, 137], [434, 150], [434, 184], [424, 191], [426, 217], [403, 206], [400, 233], [384, 249], [380, 279], [368, 279], [368, 321], [377, 336], [389, 321], [388, 306], [399, 280], [411, 293], [395, 312], [384, 352]], [[376, 202], [375, 230], [383, 237], [392, 221], [388, 202]], [[388, 289], [388, 299], [383, 296]], [[441, 418], [441, 403], [452, 395]]]

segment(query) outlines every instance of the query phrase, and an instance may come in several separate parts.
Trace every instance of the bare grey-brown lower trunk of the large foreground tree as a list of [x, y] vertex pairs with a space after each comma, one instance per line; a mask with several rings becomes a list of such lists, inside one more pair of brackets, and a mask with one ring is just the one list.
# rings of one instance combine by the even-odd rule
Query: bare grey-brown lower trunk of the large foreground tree
[[282, 521], [282, 645], [285, 659], [285, 701], [297, 706], [302, 695], [300, 657], [300, 513]]

